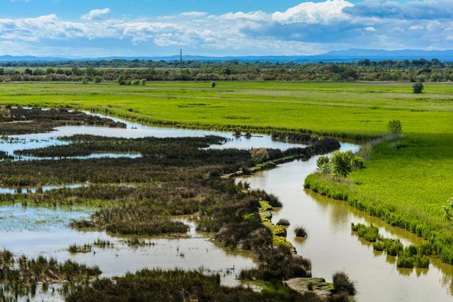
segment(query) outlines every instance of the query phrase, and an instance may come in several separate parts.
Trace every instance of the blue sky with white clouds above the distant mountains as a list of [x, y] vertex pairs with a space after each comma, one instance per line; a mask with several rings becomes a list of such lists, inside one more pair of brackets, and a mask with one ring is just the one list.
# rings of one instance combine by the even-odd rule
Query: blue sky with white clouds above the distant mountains
[[0, 55], [453, 49], [453, 0], [0, 0]]

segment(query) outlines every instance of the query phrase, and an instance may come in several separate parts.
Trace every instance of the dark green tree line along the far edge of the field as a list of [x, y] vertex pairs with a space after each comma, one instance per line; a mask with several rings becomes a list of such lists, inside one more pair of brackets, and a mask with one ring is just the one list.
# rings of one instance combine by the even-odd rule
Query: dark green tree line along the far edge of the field
[[[69, 81], [386, 81], [447, 82], [453, 63], [432, 60], [358, 60], [317, 62], [180, 62], [108, 60], [67, 62], [3, 62], [0, 82]], [[137, 82], [138, 83], [138, 82]]]

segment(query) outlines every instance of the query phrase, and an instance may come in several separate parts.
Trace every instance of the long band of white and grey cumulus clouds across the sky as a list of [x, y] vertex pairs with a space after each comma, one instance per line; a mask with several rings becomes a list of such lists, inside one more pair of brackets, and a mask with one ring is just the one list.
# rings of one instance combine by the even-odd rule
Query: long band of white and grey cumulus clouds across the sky
[[78, 22], [65, 21], [55, 14], [0, 19], [0, 40], [4, 45], [39, 45], [45, 41], [46, 47], [64, 46], [65, 51], [67, 45], [102, 49], [109, 43], [109, 51], [113, 45], [124, 52], [137, 47], [154, 54], [172, 47], [198, 54], [315, 54], [357, 47], [452, 48], [453, 20], [442, 19], [440, 16], [445, 14], [429, 10], [417, 17], [419, 12], [413, 8], [432, 6], [432, 0], [416, 2], [325, 0], [303, 2], [283, 12], [183, 12], [139, 21], [109, 18], [110, 10], [104, 8], [91, 10]]

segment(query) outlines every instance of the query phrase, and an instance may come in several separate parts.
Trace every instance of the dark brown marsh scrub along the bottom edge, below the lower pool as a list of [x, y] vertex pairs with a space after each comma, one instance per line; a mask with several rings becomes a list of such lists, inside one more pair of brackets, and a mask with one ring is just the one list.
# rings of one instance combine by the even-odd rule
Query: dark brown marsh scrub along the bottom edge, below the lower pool
[[219, 275], [203, 275], [198, 271], [140, 270], [114, 281], [98, 279], [81, 283], [67, 294], [67, 301], [321, 302], [323, 299], [314, 293], [299, 294], [288, 288], [255, 292], [251, 288], [221, 286]]

